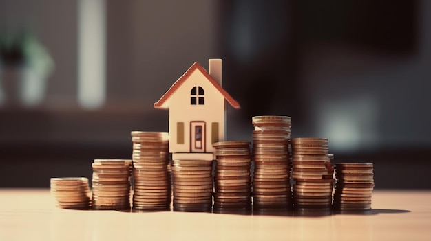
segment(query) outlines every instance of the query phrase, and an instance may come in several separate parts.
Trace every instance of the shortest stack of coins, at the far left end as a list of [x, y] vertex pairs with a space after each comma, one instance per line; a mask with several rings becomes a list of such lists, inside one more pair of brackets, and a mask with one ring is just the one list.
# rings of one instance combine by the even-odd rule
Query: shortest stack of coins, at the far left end
[[86, 177], [52, 177], [51, 195], [57, 207], [87, 209], [90, 207], [90, 188]]

